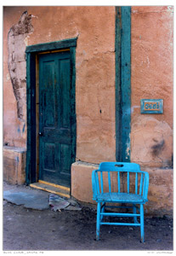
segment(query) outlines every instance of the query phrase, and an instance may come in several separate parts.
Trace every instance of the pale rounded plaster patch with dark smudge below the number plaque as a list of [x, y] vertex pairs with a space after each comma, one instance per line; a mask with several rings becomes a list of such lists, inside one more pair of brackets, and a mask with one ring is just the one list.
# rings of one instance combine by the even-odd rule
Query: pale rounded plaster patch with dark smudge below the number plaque
[[141, 116], [131, 131], [131, 160], [142, 166], [173, 167], [173, 130], [165, 121]]

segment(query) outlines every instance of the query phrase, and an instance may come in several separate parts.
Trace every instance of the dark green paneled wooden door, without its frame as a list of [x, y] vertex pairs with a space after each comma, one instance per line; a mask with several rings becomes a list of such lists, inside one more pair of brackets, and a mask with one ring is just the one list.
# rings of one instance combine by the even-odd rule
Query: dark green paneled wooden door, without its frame
[[39, 55], [39, 179], [70, 187], [70, 52]]

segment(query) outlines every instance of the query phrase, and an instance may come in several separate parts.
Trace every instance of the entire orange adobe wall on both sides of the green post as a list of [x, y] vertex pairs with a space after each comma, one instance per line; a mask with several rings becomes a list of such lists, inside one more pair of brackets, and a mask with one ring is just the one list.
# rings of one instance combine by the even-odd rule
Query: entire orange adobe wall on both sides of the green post
[[[71, 167], [71, 195], [92, 202], [92, 164], [116, 160], [115, 7], [5, 7], [3, 19], [3, 136], [9, 147], [26, 148], [26, 46], [77, 37], [81, 165]], [[131, 26], [131, 161], [150, 173], [146, 212], [171, 214], [173, 8], [132, 7]], [[140, 99], [163, 99], [163, 114], [141, 114]]]

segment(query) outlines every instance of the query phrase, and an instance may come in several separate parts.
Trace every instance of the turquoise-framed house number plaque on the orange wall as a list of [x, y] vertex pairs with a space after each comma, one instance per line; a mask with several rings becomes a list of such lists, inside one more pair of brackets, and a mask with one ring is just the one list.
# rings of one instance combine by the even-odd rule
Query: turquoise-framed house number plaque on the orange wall
[[140, 100], [140, 113], [163, 113], [163, 100]]

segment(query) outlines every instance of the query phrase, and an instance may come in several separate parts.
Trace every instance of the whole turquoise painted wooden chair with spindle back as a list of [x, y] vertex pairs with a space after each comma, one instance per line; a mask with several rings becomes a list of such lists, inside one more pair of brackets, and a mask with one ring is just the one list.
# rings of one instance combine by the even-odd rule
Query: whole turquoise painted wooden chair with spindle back
[[[98, 170], [92, 172], [92, 186], [93, 200], [97, 201], [96, 240], [99, 240], [100, 225], [107, 224], [139, 226], [141, 241], [144, 242], [144, 204], [148, 201], [148, 172], [140, 171], [139, 165], [135, 163], [103, 162], [99, 164]], [[115, 203], [118, 206], [114, 205]], [[133, 211], [132, 213], [105, 212], [105, 208], [114, 207], [132, 208]], [[105, 216], [132, 217], [133, 223], [105, 222]]]

